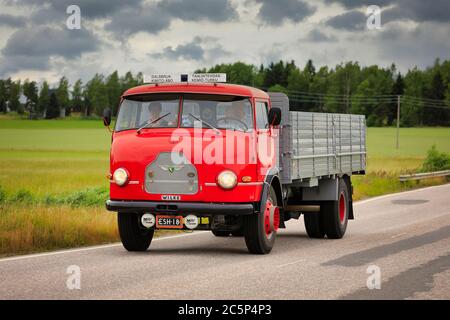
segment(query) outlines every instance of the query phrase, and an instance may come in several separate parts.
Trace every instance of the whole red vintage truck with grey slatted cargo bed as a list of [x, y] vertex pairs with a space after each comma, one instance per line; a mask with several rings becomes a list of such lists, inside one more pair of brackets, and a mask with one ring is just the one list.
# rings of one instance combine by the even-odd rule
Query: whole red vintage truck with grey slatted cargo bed
[[351, 176], [365, 172], [364, 116], [290, 111], [285, 94], [223, 77], [153, 76], [123, 94], [106, 202], [123, 246], [147, 250], [156, 229], [211, 230], [266, 254], [301, 214], [310, 237], [342, 238]]

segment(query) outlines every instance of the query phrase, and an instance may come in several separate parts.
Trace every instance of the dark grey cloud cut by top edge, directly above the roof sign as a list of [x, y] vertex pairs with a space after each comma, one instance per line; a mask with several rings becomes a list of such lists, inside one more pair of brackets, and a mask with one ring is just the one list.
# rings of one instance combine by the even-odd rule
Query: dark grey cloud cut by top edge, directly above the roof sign
[[167, 15], [185, 21], [228, 21], [238, 16], [228, 0], [165, 0], [158, 7]]

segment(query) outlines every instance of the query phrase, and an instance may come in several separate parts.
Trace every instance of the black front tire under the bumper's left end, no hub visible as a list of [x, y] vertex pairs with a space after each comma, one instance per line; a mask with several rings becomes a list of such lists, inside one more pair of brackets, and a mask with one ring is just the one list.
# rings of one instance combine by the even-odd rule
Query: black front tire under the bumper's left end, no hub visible
[[122, 244], [128, 251], [145, 251], [153, 239], [153, 229], [141, 226], [136, 213], [118, 213], [117, 223]]

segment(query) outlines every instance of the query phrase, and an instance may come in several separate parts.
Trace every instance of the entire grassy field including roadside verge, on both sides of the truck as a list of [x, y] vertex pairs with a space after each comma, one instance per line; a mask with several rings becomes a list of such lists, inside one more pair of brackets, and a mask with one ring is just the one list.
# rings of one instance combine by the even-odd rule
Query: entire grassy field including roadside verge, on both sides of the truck
[[[450, 153], [450, 128], [402, 128], [399, 150], [395, 135], [368, 129], [356, 200], [445, 181], [401, 184], [397, 175], [420, 167], [433, 144]], [[110, 140], [101, 121], [0, 119], [0, 193], [11, 200], [0, 194], [0, 255], [117, 240], [115, 217], [101, 206]]]

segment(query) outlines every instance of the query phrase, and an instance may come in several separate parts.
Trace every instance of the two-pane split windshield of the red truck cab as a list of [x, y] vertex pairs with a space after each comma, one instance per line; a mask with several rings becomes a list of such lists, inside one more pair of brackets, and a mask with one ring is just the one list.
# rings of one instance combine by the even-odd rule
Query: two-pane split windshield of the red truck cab
[[175, 128], [180, 126], [251, 131], [253, 113], [250, 100], [238, 96], [208, 94], [147, 94], [122, 101], [116, 131]]

